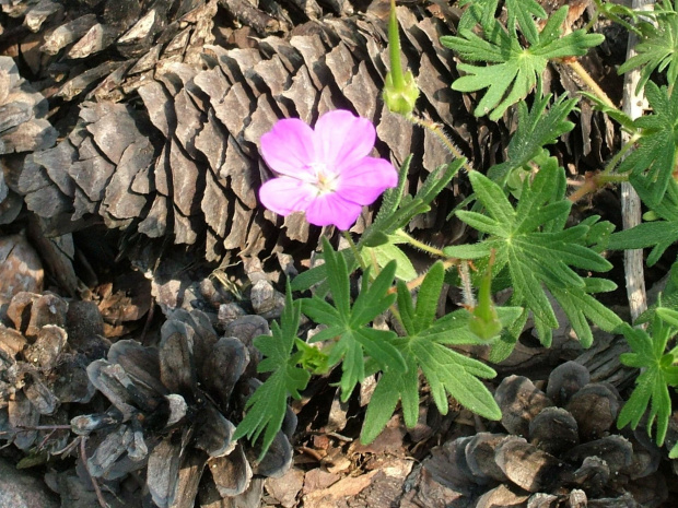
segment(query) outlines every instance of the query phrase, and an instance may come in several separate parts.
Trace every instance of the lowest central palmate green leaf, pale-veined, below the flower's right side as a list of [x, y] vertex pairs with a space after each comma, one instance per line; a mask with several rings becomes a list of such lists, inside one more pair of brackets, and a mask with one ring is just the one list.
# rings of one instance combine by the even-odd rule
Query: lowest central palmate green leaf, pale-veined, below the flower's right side
[[[435, 320], [443, 279], [444, 268], [437, 262], [431, 267], [422, 282], [416, 306], [405, 283], [398, 283], [398, 309], [408, 335], [395, 339], [393, 344], [402, 355], [407, 371], [402, 374], [388, 369], [382, 374], [365, 414], [361, 433], [363, 442], [371, 442], [384, 429], [398, 401], [402, 403], [406, 425], [414, 426], [419, 416], [420, 368], [442, 414], [447, 414], [449, 394], [481, 416], [501, 418], [494, 398], [478, 379], [492, 378], [496, 375], [495, 371], [446, 346], [451, 342], [480, 343], [468, 330], [470, 315], [461, 310]], [[515, 311], [510, 311], [504, 315], [504, 321], [515, 316]]]

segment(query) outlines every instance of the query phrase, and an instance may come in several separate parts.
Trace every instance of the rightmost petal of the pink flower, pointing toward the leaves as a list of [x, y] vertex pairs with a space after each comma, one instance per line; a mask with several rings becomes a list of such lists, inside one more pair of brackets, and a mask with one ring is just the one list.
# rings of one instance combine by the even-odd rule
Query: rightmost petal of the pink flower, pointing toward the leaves
[[343, 169], [336, 192], [358, 204], [372, 204], [382, 193], [398, 185], [398, 172], [384, 158], [364, 157]]

